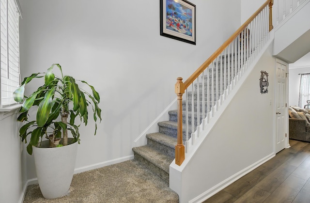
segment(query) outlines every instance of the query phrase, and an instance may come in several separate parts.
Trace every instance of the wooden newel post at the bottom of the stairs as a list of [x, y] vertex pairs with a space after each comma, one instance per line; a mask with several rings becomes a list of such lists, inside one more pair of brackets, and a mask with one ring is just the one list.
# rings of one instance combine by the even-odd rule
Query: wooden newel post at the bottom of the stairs
[[182, 137], [182, 96], [185, 93], [183, 78], [177, 78], [175, 84], [175, 94], [178, 96], [178, 141], [175, 145], [175, 164], [181, 166], [185, 159], [185, 147], [183, 145]]

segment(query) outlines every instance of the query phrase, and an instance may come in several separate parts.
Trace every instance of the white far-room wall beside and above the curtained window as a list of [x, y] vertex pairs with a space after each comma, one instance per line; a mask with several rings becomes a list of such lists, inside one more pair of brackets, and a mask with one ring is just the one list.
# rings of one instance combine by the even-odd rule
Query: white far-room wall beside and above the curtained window
[[300, 75], [298, 74], [302, 73], [310, 73], [310, 66], [302, 68], [289, 68], [289, 106], [298, 107], [300, 85]]

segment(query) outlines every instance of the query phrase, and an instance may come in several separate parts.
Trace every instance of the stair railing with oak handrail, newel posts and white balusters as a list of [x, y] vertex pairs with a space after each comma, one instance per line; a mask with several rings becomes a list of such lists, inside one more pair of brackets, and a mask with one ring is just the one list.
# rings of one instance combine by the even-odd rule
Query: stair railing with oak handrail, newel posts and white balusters
[[[185, 160], [185, 153], [189, 147], [195, 144], [195, 139], [199, 137], [205, 124], [233, 89], [248, 63], [269, 39], [269, 31], [273, 29], [272, 5], [273, 0], [267, 0], [184, 83], [183, 78], [177, 78], [175, 84], [178, 99], [178, 133], [175, 146], [177, 165], [180, 166]], [[184, 93], [186, 93], [185, 102], [182, 100]], [[186, 125], [184, 130], [183, 123]], [[183, 144], [183, 134], [186, 146]]]

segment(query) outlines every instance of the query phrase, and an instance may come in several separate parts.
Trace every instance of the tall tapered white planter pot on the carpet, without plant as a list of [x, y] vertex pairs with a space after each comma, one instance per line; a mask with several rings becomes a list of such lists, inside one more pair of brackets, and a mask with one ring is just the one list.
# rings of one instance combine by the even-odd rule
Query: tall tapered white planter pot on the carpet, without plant
[[[68, 142], [70, 143], [69, 139]], [[41, 147], [47, 147], [48, 140]], [[76, 163], [78, 142], [63, 147], [33, 147], [35, 170], [43, 197], [54, 199], [70, 187]]]

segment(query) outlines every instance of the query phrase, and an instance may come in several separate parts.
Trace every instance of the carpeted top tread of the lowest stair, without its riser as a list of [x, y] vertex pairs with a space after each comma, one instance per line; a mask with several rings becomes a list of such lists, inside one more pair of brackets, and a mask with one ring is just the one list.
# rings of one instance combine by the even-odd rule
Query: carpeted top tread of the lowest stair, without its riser
[[169, 166], [174, 159], [173, 157], [167, 156], [148, 145], [134, 147], [132, 150], [169, 174]]

